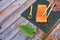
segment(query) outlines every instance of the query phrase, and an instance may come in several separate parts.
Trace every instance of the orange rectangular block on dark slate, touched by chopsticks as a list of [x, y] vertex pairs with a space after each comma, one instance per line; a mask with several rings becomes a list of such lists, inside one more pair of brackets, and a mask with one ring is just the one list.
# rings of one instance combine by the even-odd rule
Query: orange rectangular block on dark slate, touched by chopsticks
[[36, 22], [47, 22], [47, 12], [42, 16], [46, 9], [47, 9], [46, 5], [38, 5]]

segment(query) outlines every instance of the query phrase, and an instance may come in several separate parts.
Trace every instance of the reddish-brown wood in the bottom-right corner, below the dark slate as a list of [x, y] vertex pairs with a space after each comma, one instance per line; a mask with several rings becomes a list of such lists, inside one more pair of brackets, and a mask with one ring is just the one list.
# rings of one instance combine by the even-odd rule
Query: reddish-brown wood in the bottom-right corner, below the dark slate
[[60, 21], [56, 23], [54, 28], [51, 30], [49, 35], [46, 37], [45, 40], [59, 40], [60, 39]]

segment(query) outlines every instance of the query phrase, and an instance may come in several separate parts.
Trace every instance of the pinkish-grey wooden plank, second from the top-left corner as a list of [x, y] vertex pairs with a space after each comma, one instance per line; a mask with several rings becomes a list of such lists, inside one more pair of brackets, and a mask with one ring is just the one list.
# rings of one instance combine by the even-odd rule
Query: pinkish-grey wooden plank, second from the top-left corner
[[0, 22], [3, 21], [6, 17], [11, 15], [16, 9], [18, 9], [20, 6], [22, 6], [27, 0], [16, 0], [13, 4], [11, 4], [9, 7], [4, 9], [2, 12], [0, 12]]

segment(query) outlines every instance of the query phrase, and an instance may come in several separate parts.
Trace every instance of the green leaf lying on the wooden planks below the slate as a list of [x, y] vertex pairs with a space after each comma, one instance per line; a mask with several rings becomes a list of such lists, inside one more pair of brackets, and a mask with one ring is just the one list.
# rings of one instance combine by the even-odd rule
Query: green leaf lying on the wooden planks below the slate
[[18, 28], [29, 37], [33, 37], [36, 32], [36, 29], [32, 28], [30, 25], [18, 25]]

